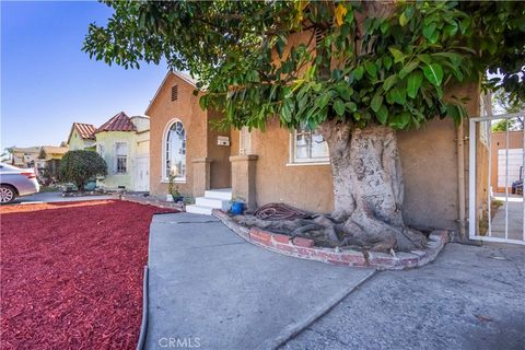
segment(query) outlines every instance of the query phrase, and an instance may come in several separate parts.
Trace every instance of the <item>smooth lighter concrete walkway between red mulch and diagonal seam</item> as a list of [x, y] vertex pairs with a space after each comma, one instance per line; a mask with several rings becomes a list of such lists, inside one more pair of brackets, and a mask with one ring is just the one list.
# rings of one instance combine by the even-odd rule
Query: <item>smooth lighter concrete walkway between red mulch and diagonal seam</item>
[[219, 220], [155, 215], [147, 349], [272, 349], [374, 271], [256, 247]]

